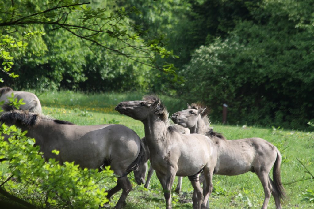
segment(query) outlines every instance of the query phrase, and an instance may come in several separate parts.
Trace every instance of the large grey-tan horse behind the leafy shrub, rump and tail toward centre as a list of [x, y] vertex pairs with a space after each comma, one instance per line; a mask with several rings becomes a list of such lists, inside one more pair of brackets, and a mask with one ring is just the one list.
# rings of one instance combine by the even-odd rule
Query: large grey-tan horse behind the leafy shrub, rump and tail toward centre
[[[119, 178], [117, 185], [108, 191], [107, 198], [122, 189], [115, 208], [122, 208], [132, 190], [127, 178], [129, 172], [134, 171], [139, 185], [144, 182], [148, 160], [146, 150], [138, 135], [126, 126], [78, 126], [20, 110], [4, 113], [0, 122], [26, 130], [28, 137], [35, 138], [35, 145], [40, 146], [45, 159], [55, 158], [60, 164], [74, 161], [81, 168], [97, 169], [110, 165]], [[54, 149], [60, 153], [51, 153]]]

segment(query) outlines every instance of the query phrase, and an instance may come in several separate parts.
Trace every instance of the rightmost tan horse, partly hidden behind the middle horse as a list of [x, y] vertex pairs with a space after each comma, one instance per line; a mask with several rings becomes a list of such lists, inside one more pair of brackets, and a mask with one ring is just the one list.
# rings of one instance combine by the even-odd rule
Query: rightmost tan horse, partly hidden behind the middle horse
[[[214, 142], [218, 151], [215, 174], [240, 175], [248, 171], [255, 172], [265, 192], [262, 209], [267, 208], [271, 194], [275, 199], [276, 208], [281, 209], [281, 200], [285, 194], [280, 177], [279, 150], [262, 138], [226, 140], [209, 127], [206, 107], [193, 103], [187, 108], [187, 110], [174, 113], [171, 119], [174, 123], [189, 128], [191, 133], [204, 134]], [[269, 177], [272, 167], [273, 180]]]

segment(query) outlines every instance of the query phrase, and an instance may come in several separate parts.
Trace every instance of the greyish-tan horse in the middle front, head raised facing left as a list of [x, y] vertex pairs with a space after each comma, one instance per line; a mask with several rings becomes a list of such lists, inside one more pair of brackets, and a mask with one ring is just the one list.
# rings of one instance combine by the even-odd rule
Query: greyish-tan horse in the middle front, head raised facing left
[[[172, 208], [171, 188], [176, 175], [189, 177], [194, 188], [193, 208], [206, 208], [217, 161], [213, 142], [204, 135], [182, 134], [170, 126], [169, 113], [156, 96], [120, 102], [115, 110], [144, 124], [150, 163], [162, 185], [166, 208]], [[206, 180], [204, 192], [198, 180], [201, 171]]]

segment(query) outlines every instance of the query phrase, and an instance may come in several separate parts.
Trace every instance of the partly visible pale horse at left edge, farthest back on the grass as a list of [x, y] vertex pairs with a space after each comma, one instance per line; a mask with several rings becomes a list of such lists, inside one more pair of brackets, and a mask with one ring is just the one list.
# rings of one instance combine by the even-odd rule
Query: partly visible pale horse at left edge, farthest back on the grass
[[4, 101], [3, 109], [5, 111], [15, 109], [15, 107], [8, 105], [9, 102], [7, 98], [11, 97], [12, 93], [14, 94], [14, 98], [18, 100], [23, 99], [23, 102], [25, 102], [25, 104], [19, 107], [20, 110], [28, 110], [29, 112], [41, 114], [41, 104], [35, 94], [26, 91], [13, 91], [10, 87], [0, 88], [0, 102]]

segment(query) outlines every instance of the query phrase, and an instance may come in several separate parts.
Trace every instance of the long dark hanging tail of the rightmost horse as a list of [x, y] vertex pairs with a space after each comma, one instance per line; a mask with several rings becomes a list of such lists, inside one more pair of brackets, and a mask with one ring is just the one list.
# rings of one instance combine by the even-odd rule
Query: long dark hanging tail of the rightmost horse
[[278, 194], [281, 201], [286, 197], [285, 189], [281, 182], [280, 177], [280, 164], [281, 164], [281, 155], [279, 150], [276, 148], [277, 158], [273, 166], [273, 189]]

